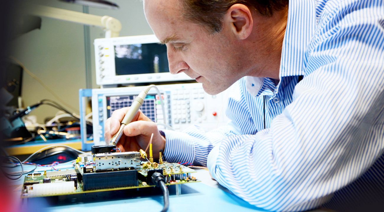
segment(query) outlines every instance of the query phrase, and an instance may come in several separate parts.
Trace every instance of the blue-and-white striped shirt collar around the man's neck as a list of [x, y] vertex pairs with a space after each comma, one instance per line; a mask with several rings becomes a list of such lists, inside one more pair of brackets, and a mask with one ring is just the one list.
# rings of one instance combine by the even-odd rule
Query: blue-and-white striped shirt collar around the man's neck
[[251, 95], [271, 95], [270, 91], [277, 91], [280, 88], [283, 77], [304, 75], [305, 50], [316, 27], [315, 5], [314, 0], [289, 1], [287, 27], [281, 50], [280, 82], [271, 90], [270, 85], [266, 85], [270, 83], [266, 80], [268, 78], [247, 76], [246, 87]]

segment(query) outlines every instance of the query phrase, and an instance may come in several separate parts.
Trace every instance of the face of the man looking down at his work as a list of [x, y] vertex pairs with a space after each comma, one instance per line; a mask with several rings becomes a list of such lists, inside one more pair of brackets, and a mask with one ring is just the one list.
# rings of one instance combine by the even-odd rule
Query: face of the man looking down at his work
[[[144, 13], [156, 37], [167, 46], [169, 71], [184, 72], [215, 95], [242, 76], [235, 39], [229, 30], [209, 35], [182, 17], [180, 0], [146, 0]], [[232, 35], [232, 36], [231, 36]]]

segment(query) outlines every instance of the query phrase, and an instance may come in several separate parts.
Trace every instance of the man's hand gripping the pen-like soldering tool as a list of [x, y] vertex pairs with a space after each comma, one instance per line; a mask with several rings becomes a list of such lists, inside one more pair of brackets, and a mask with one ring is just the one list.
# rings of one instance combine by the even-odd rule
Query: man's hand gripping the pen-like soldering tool
[[[107, 144], [112, 139], [113, 135], [119, 130], [120, 123], [124, 118], [125, 114], [129, 110], [128, 108], [121, 108], [113, 111], [112, 116], [107, 119], [104, 126], [104, 140]], [[152, 139], [152, 150], [153, 157], [159, 157], [160, 149], [164, 150], [166, 145], [166, 139], [160, 135], [157, 129], [156, 123], [152, 122], [147, 116], [145, 116], [141, 110], [137, 111], [132, 122], [124, 127], [124, 134], [121, 136], [117, 148], [121, 152], [128, 151], [139, 151], [140, 149], [145, 150], [151, 139]], [[147, 152], [149, 156], [149, 152]]]

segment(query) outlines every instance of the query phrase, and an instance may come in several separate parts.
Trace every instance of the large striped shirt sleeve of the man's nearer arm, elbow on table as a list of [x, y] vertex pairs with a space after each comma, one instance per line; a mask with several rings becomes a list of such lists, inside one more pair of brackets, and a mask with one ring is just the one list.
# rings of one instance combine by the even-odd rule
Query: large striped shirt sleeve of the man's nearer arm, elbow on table
[[[313, 209], [361, 176], [384, 152], [384, 10], [376, 4], [324, 12], [306, 51], [305, 77], [268, 129], [216, 140], [180, 134], [188, 159], [206, 151], [220, 184], [271, 211]], [[196, 138], [212, 142], [196, 147]]]

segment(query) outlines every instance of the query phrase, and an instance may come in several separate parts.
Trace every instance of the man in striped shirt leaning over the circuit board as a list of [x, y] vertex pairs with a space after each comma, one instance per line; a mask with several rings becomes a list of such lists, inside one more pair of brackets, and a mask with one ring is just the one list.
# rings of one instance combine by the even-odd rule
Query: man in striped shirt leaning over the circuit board
[[[168, 161], [207, 165], [266, 210], [352, 210], [361, 188], [384, 198], [383, 1], [145, 0], [144, 13], [171, 73], [211, 95], [235, 83], [231, 122], [159, 132], [139, 112], [119, 148], [145, 148], [154, 133]], [[127, 110], [107, 121], [106, 140]]]

